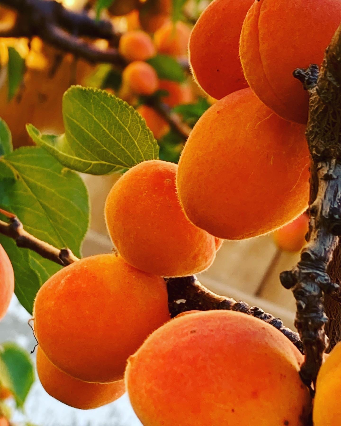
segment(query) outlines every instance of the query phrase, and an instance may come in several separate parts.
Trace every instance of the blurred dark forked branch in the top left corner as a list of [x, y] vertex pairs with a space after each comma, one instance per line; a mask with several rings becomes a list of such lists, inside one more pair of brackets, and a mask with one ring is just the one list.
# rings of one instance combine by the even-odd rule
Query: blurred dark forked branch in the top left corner
[[76, 38], [104, 38], [117, 46], [120, 34], [109, 21], [95, 21], [86, 13], [69, 11], [54, 0], [0, 0], [0, 4], [18, 13], [14, 28], [3, 32], [2, 37], [12, 37], [12, 34], [16, 37], [37, 36], [57, 49], [92, 63], [107, 62], [118, 67], [126, 64], [117, 49], [104, 51]]

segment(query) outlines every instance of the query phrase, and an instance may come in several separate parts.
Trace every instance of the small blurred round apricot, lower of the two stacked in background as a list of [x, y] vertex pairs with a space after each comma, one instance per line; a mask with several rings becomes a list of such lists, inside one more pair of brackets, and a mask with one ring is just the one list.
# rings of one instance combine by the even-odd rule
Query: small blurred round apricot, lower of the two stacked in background
[[122, 72], [123, 85], [137, 95], [152, 95], [159, 86], [155, 69], [149, 63], [136, 60]]

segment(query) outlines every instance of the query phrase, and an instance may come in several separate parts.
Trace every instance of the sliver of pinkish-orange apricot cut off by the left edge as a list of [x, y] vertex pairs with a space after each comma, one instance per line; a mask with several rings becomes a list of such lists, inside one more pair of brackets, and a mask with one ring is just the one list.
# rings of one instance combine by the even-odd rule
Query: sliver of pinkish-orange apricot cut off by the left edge
[[0, 320], [5, 316], [14, 293], [12, 263], [0, 244]]

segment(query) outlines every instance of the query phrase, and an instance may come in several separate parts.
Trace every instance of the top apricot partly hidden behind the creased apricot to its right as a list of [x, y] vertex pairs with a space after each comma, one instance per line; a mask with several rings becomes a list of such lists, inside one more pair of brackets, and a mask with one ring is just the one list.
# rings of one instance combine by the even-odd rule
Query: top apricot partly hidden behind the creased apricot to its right
[[216, 99], [248, 86], [239, 58], [239, 38], [252, 3], [214, 0], [192, 30], [188, 50], [193, 76]]

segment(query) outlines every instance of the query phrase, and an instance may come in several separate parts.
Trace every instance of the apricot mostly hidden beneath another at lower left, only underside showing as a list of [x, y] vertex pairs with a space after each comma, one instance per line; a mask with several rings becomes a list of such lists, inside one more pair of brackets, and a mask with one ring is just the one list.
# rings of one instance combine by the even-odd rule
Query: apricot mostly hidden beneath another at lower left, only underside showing
[[88, 410], [117, 400], [124, 394], [124, 380], [90, 383], [69, 376], [54, 366], [40, 346], [37, 348], [37, 372], [46, 392], [74, 408]]

